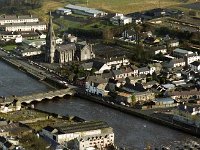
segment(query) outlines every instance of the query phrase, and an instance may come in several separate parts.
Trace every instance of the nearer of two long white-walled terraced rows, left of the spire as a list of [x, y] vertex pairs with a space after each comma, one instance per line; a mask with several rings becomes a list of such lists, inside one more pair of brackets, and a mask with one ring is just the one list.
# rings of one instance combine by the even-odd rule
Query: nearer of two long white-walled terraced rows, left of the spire
[[43, 22], [24, 22], [24, 23], [9, 23], [0, 25], [0, 29], [3, 31], [45, 31], [46, 24]]

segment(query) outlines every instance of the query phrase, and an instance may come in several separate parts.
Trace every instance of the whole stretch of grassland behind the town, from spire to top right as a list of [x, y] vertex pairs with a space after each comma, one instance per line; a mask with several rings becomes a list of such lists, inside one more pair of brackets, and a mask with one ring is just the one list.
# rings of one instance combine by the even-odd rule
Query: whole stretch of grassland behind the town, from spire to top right
[[[41, 8], [32, 10], [31, 13], [39, 16], [42, 20], [48, 20], [48, 12], [58, 7], [72, 3], [87, 7], [99, 8], [111, 12], [130, 13], [148, 10], [157, 7], [169, 7], [183, 4], [181, 0], [44, 0]], [[196, 0], [188, 0], [187, 3]], [[87, 5], [88, 4], [88, 5]]]

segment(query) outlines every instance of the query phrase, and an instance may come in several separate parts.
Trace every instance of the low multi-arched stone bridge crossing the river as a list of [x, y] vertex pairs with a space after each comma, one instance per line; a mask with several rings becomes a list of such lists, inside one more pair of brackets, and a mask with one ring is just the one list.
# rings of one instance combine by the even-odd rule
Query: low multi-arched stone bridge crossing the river
[[55, 97], [64, 97], [66, 95], [74, 95], [76, 90], [74, 88], [67, 88], [55, 91], [48, 91], [43, 93], [34, 93], [31, 95], [24, 95], [24, 96], [10, 96], [0, 98], [1, 104], [9, 104], [12, 103], [14, 100], [18, 100], [21, 103], [31, 103], [33, 101], [42, 101], [45, 99], [53, 99]]

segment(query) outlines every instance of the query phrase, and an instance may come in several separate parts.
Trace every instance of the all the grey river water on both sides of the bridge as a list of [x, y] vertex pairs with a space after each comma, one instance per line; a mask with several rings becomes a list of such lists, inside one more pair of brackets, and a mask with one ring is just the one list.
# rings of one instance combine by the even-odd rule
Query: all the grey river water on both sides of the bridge
[[[47, 90], [49, 87], [43, 83], [0, 62], [0, 96], [26, 95]], [[188, 140], [200, 143], [199, 139], [191, 135], [77, 97], [41, 102], [35, 107], [57, 114], [79, 116], [86, 120], [106, 121], [114, 129], [115, 143], [130, 150], [144, 149], [147, 145], [171, 145], [171, 149], [174, 149], [172, 145]]]

